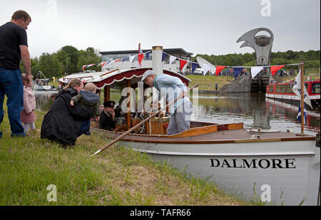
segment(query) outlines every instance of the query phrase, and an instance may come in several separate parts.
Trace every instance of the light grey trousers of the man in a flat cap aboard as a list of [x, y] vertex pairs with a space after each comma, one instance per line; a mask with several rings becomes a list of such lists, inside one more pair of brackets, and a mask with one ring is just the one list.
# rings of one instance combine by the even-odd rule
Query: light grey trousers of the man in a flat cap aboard
[[167, 128], [167, 135], [175, 135], [184, 130], [190, 129], [190, 115], [192, 115], [193, 104], [183, 103], [173, 115], [170, 115], [170, 122]]

